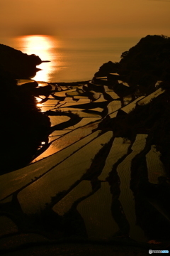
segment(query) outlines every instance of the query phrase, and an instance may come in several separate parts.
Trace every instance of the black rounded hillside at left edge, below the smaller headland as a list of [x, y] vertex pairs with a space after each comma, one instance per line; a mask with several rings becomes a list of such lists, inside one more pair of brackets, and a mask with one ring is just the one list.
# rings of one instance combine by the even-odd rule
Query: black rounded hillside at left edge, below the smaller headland
[[0, 85], [2, 174], [33, 159], [38, 146], [47, 140], [50, 120], [38, 110], [31, 90], [17, 86], [11, 73], [0, 70]]

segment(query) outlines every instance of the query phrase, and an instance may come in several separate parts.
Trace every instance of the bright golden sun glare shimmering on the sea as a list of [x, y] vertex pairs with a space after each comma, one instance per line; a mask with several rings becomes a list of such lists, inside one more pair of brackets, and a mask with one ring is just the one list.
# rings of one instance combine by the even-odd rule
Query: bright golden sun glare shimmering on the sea
[[36, 81], [48, 81], [50, 74], [55, 72], [52, 67], [52, 62], [54, 62], [52, 49], [57, 46], [57, 40], [52, 36], [46, 35], [20, 36], [17, 40], [19, 50], [23, 53], [38, 55], [41, 60], [50, 60], [50, 63], [41, 63], [37, 66], [41, 70], [33, 78]]

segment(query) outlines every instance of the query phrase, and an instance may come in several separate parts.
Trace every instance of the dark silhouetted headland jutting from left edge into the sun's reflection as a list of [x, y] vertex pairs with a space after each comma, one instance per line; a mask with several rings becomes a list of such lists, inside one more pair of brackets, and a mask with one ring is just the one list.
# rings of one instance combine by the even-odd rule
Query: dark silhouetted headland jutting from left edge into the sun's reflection
[[13, 74], [15, 78], [33, 78], [40, 69], [42, 60], [35, 54], [27, 55], [21, 50], [13, 49], [9, 46], [0, 44], [0, 68]]

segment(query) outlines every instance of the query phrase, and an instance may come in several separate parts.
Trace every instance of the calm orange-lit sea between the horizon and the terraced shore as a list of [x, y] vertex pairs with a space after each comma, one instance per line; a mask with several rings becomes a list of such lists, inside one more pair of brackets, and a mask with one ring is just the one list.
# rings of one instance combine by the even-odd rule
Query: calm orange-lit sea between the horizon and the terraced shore
[[109, 60], [120, 61], [125, 50], [140, 38], [57, 38], [55, 36], [20, 36], [0, 38], [6, 44], [23, 53], [39, 55], [42, 70], [33, 78], [47, 82], [74, 82], [91, 80], [98, 68]]

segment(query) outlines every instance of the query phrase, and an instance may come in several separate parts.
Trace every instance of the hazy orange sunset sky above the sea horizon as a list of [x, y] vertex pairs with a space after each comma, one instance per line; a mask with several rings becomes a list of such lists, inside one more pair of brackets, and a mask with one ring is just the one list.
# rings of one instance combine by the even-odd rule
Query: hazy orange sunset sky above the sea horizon
[[170, 0], [4, 0], [1, 36], [170, 36]]

